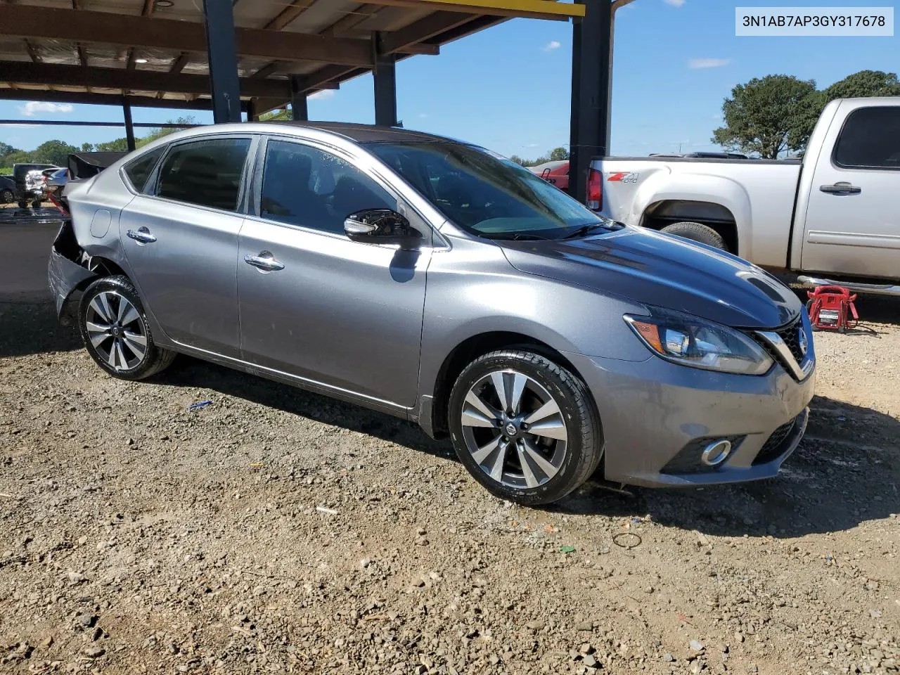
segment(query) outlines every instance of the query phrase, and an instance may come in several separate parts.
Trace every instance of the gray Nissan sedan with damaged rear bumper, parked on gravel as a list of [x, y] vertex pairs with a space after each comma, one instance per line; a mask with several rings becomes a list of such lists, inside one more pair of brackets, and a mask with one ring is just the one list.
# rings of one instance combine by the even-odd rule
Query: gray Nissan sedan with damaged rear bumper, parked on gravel
[[806, 428], [797, 295], [408, 130], [217, 125], [70, 183], [49, 284], [108, 374], [176, 353], [449, 436], [503, 499], [774, 476]]

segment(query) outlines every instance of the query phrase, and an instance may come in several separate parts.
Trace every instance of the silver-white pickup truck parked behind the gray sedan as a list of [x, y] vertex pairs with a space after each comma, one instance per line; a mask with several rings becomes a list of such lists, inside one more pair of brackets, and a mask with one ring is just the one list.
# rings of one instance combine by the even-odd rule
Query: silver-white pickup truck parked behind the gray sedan
[[802, 161], [594, 159], [588, 205], [806, 284], [900, 295], [900, 97], [828, 103]]

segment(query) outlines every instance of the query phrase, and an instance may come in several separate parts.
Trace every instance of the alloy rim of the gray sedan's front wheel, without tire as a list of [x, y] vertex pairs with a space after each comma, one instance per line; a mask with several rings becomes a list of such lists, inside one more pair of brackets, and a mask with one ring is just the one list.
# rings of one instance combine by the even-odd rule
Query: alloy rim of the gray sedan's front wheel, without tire
[[542, 384], [516, 370], [497, 370], [474, 383], [461, 422], [475, 463], [506, 487], [539, 487], [565, 460], [568, 430], [559, 403]]

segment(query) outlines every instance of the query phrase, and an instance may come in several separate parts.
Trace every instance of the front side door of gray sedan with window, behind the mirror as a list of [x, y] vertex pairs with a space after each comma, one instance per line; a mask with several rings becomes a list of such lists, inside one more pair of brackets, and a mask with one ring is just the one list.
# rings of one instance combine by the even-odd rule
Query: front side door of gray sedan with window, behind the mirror
[[243, 358], [388, 407], [413, 406], [430, 229], [417, 251], [348, 239], [350, 213], [406, 209], [352, 157], [328, 148], [270, 139], [260, 193], [258, 217], [240, 231]]

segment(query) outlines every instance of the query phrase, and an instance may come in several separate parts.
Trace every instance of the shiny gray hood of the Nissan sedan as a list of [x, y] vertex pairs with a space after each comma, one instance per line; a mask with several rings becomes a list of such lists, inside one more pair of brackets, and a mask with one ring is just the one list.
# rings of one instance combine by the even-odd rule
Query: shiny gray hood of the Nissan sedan
[[745, 260], [648, 229], [552, 241], [498, 240], [510, 265], [642, 304], [735, 328], [773, 329], [803, 305], [787, 286]]

